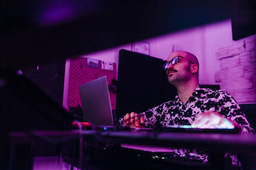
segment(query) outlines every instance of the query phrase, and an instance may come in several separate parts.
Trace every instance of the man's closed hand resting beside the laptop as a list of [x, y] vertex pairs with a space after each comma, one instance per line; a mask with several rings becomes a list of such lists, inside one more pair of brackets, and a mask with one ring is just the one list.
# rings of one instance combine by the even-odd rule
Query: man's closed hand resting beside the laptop
[[124, 126], [132, 126], [132, 127], [143, 127], [145, 117], [143, 114], [137, 114], [135, 112], [131, 112], [131, 114], [127, 113], [124, 117]]

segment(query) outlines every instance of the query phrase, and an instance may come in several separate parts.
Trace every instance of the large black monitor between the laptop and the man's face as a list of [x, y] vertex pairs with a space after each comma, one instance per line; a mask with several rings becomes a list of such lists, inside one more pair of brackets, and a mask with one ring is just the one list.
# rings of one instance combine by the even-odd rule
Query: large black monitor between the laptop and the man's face
[[173, 99], [176, 88], [169, 84], [164, 61], [121, 49], [118, 61], [116, 118], [126, 113], [145, 112]]

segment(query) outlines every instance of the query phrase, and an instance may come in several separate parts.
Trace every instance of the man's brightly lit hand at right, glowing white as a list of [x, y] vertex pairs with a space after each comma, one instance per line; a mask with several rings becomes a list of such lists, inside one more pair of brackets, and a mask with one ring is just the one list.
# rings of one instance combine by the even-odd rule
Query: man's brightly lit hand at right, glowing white
[[198, 117], [195, 118], [191, 126], [210, 129], [240, 127], [235, 121], [228, 120], [218, 112], [212, 111], [198, 114]]

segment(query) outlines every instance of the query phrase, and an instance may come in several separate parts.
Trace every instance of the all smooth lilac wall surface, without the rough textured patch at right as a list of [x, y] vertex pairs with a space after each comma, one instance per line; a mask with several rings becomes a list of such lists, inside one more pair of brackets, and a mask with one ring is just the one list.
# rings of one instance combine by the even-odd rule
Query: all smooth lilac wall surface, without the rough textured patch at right
[[[217, 60], [215, 53], [220, 47], [233, 45], [243, 42], [242, 40], [233, 41], [231, 32], [231, 20], [221, 21], [209, 25], [202, 25], [191, 29], [182, 30], [172, 34], [149, 38], [150, 56], [167, 60], [173, 50], [184, 50], [198, 56], [200, 63], [199, 83], [218, 84], [215, 82], [215, 73], [220, 70], [220, 60]], [[131, 50], [131, 44], [121, 45], [105, 51], [89, 53], [83, 55], [86, 58], [96, 58], [109, 62], [116, 62], [118, 69], [118, 53], [120, 49]], [[69, 61], [66, 63], [66, 76], [63, 106], [67, 106]]]

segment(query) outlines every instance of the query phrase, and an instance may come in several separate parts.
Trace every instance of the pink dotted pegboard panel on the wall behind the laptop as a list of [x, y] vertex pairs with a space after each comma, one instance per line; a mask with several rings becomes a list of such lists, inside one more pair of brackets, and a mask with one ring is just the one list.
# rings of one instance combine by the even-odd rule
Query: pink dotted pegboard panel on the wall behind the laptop
[[[111, 84], [111, 80], [116, 79], [116, 63], [114, 63], [114, 70], [109, 71], [101, 69], [102, 61], [98, 61], [98, 68], [92, 68], [87, 66], [87, 58], [74, 58], [70, 60], [70, 85], [69, 85], [69, 97], [68, 106], [77, 107], [81, 106], [81, 98], [79, 93], [79, 86], [95, 80], [98, 77], [104, 75], [107, 76], [107, 83]], [[116, 110], [116, 93], [109, 92], [111, 99], [111, 108]]]

